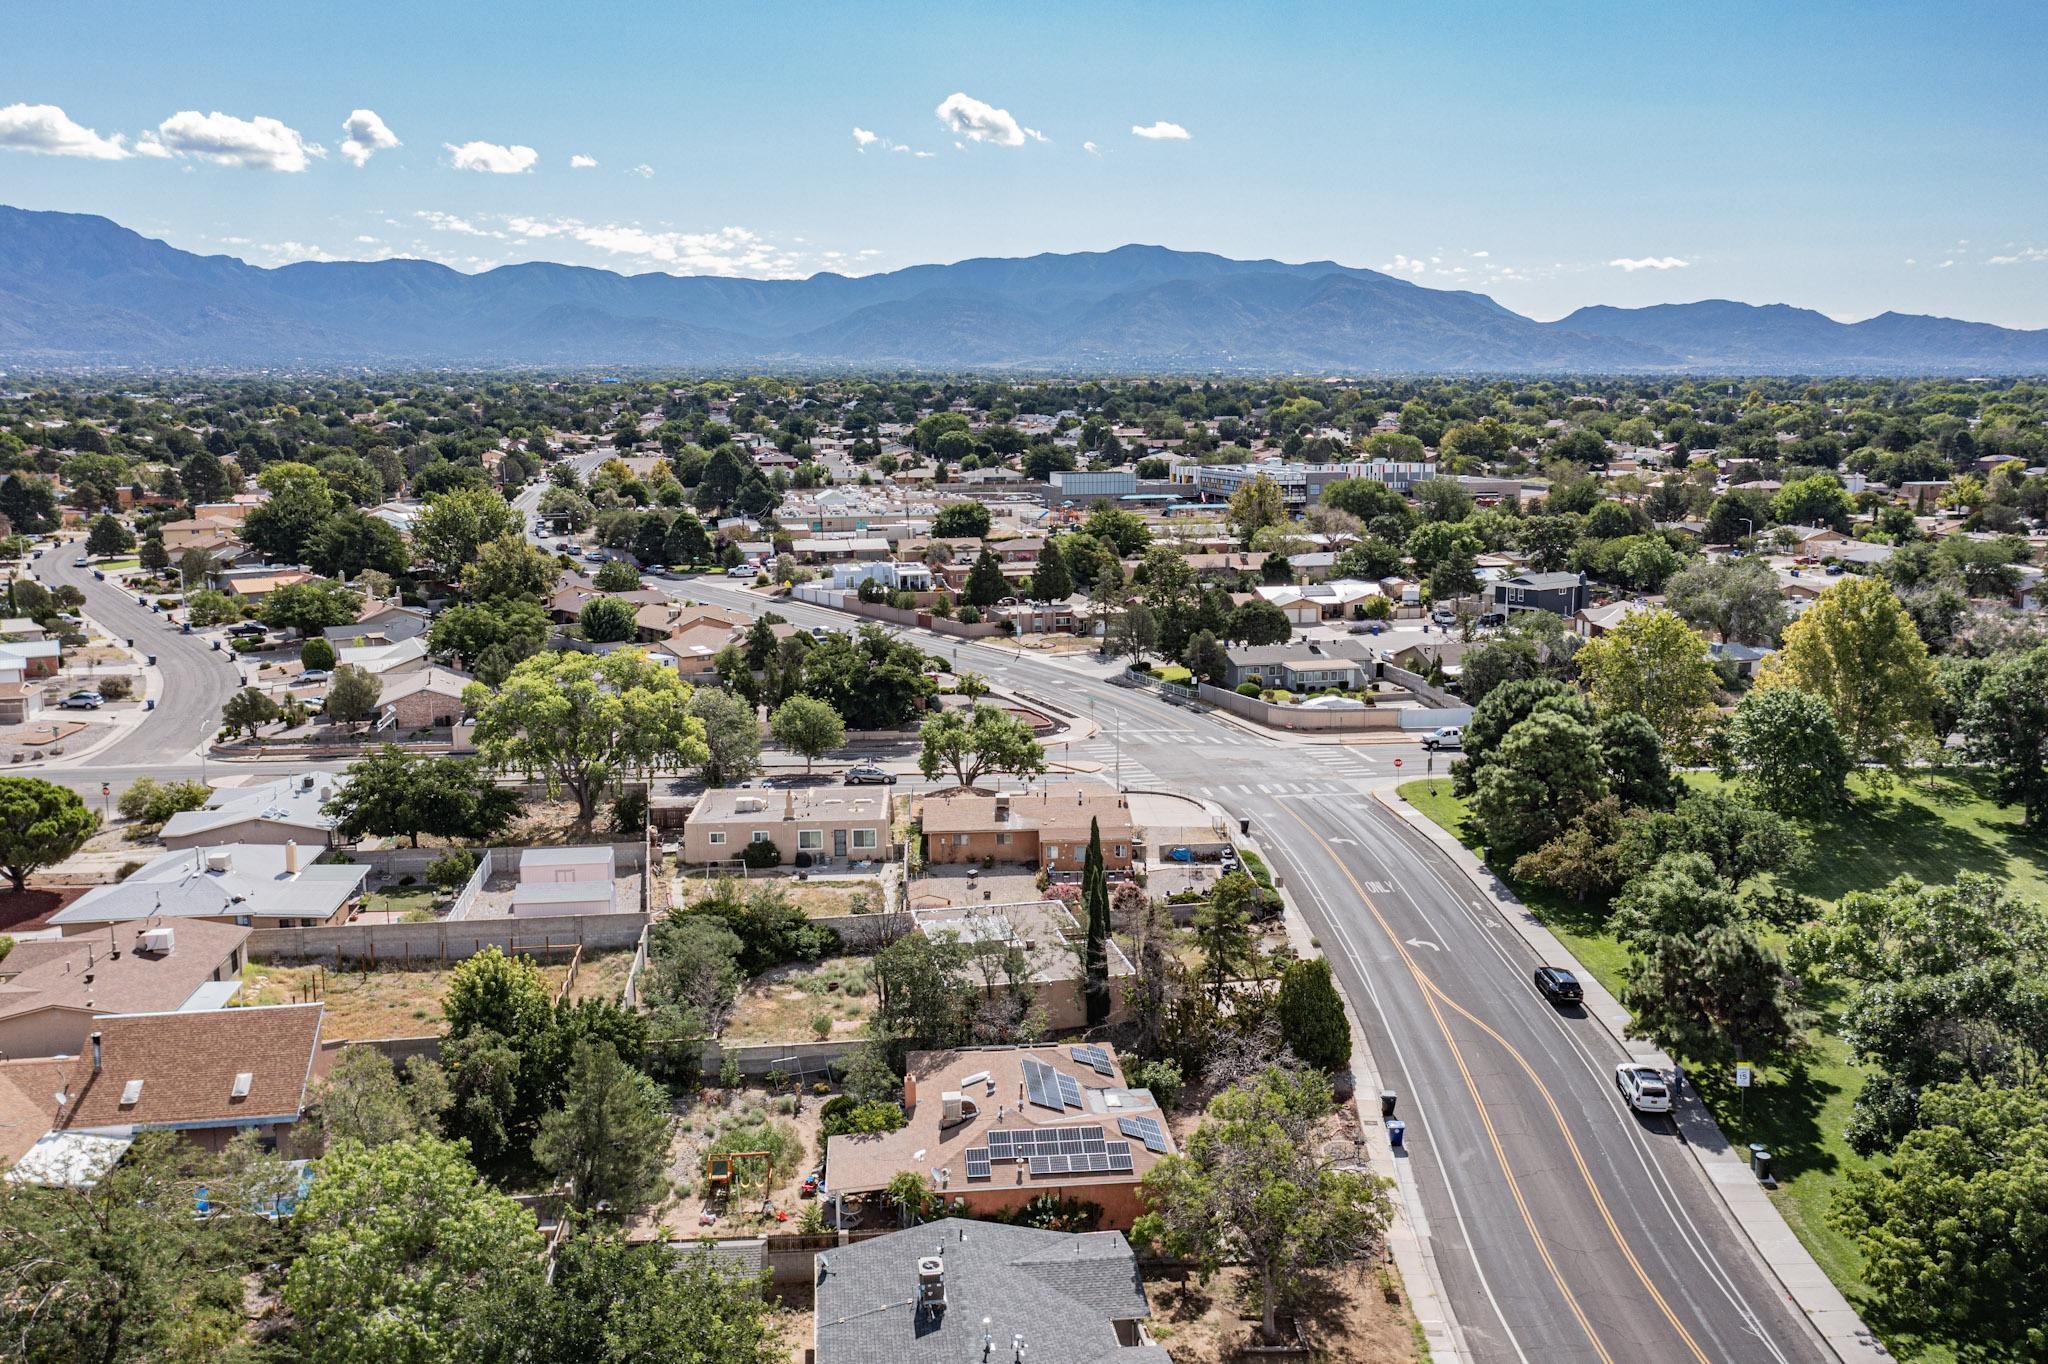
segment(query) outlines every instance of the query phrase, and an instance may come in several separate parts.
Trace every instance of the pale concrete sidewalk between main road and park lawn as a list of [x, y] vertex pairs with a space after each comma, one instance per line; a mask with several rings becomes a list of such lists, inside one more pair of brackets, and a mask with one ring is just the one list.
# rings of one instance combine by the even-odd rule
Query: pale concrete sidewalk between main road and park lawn
[[[1655, 1065], [1661, 1071], [1671, 1069], [1671, 1057], [1667, 1057], [1657, 1047], [1645, 1042], [1642, 1038], [1628, 1036], [1628, 1010], [1622, 1008], [1608, 989], [1593, 979], [1587, 971], [1573, 958], [1571, 950], [1556, 940], [1548, 928], [1520, 901], [1516, 895], [1501, 885], [1499, 877], [1485, 866], [1473, 850], [1450, 836], [1448, 829], [1438, 825], [1434, 819], [1423, 815], [1419, 809], [1403, 801], [1393, 791], [1372, 793], [1380, 805], [1391, 809], [1395, 815], [1405, 819], [1409, 827], [1421, 832], [1430, 842], [1444, 850], [1452, 862], [1470, 879], [1479, 893], [1499, 911], [1499, 915], [1513, 926], [1522, 940], [1534, 948], [1534, 952], [1548, 963], [1571, 967], [1579, 985], [1585, 991], [1585, 1012], [1599, 1020], [1614, 1040], [1636, 1061], [1645, 1065]], [[1798, 1233], [1786, 1223], [1778, 1204], [1772, 1196], [1757, 1184], [1757, 1178], [1749, 1171], [1749, 1153], [1737, 1151], [1729, 1145], [1726, 1135], [1722, 1135], [1720, 1124], [1700, 1102], [1694, 1088], [1686, 1088], [1673, 1118], [1677, 1120], [1679, 1137], [1692, 1157], [1700, 1163], [1706, 1182], [1720, 1196], [1722, 1206], [1726, 1206], [1729, 1217], [1749, 1239], [1749, 1245], [1757, 1251], [1769, 1272], [1784, 1286], [1786, 1296], [1800, 1309], [1827, 1348], [1833, 1350], [1837, 1360], [1843, 1364], [1872, 1364], [1876, 1360], [1892, 1358], [1890, 1352], [1870, 1333], [1864, 1319], [1855, 1315], [1849, 1301], [1841, 1296], [1835, 1282], [1827, 1272], [1815, 1262], [1812, 1251], [1806, 1249]]]

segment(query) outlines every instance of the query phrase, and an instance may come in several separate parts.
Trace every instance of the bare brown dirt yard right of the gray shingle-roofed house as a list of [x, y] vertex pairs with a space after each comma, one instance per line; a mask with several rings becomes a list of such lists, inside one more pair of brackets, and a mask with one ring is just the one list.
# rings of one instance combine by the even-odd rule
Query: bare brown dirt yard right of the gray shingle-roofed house
[[[1225, 1364], [1257, 1335], [1257, 1298], [1243, 1270], [1223, 1270], [1206, 1284], [1178, 1270], [1149, 1270], [1153, 1315], [1145, 1329], [1174, 1364]], [[1309, 1358], [1327, 1364], [1413, 1364], [1427, 1350], [1393, 1270], [1348, 1266], [1321, 1276], [1300, 1313]]]

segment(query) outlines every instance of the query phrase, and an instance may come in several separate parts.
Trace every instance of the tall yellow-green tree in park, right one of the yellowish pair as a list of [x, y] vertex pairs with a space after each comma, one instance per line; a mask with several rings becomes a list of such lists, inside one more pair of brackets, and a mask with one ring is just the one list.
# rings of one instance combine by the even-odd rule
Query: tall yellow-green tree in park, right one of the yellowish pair
[[1884, 782], [1931, 737], [1933, 664], [1890, 584], [1845, 578], [1825, 590], [1763, 662], [1757, 686], [1794, 686], [1827, 702], [1849, 756]]

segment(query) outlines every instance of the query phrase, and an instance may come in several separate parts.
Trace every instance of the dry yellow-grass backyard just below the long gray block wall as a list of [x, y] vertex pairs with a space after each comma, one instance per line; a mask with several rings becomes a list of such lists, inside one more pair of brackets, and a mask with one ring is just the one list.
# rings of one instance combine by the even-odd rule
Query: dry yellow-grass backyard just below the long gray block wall
[[[571, 999], [616, 997], [625, 987], [633, 952], [600, 952], [582, 963]], [[299, 1004], [319, 999], [328, 1006], [322, 1032], [330, 1038], [426, 1036], [440, 1032], [440, 999], [455, 967], [422, 967], [418, 971], [334, 971], [324, 967], [289, 967], [250, 963], [242, 971], [244, 1004]], [[561, 989], [569, 977], [567, 956], [541, 963], [551, 989]]]

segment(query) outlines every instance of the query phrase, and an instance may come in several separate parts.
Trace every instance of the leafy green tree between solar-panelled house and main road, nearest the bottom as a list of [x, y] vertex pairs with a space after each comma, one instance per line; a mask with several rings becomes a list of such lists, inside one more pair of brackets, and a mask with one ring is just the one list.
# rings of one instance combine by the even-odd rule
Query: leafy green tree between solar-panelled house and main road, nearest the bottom
[[1204, 1274], [1241, 1262], [1257, 1284], [1266, 1341], [1280, 1339], [1280, 1305], [1305, 1274], [1370, 1258], [1393, 1221], [1389, 1180], [1321, 1155], [1317, 1124], [1333, 1108], [1321, 1075], [1268, 1069], [1210, 1100], [1186, 1151], [1155, 1163], [1141, 1186], [1147, 1212], [1130, 1239]]

